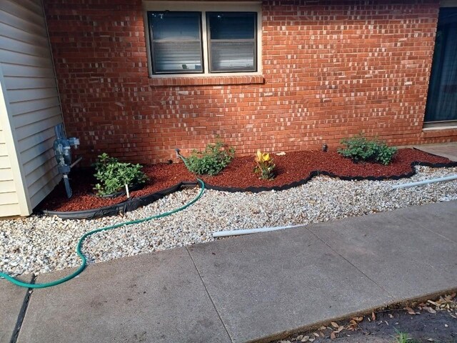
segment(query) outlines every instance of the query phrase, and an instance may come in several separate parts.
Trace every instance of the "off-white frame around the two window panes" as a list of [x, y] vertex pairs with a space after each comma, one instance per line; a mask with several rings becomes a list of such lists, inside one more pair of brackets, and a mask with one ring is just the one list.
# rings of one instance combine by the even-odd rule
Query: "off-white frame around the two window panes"
[[[262, 4], [261, 1], [143, 1], [144, 34], [146, 38], [146, 54], [148, 56], [149, 77], [154, 79], [170, 77], [201, 77], [201, 76], [246, 76], [262, 74]], [[149, 37], [148, 11], [193, 11], [201, 12], [201, 42], [203, 45], [203, 73], [189, 74], [153, 74], [151, 41]], [[257, 13], [257, 71], [209, 72], [208, 29], [206, 12], [256, 12]]]

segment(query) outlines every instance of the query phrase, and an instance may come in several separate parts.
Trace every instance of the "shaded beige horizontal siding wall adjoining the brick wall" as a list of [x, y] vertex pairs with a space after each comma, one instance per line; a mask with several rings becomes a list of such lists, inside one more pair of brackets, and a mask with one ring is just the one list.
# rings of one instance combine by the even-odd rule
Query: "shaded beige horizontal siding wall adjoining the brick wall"
[[60, 179], [52, 145], [62, 115], [40, 0], [0, 1], [0, 68], [31, 212]]

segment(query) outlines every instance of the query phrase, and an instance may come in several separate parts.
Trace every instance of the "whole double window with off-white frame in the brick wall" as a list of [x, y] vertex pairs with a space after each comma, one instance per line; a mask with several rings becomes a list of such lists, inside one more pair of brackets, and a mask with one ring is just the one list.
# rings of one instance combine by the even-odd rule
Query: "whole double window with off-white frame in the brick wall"
[[151, 74], [257, 74], [260, 6], [144, 1]]

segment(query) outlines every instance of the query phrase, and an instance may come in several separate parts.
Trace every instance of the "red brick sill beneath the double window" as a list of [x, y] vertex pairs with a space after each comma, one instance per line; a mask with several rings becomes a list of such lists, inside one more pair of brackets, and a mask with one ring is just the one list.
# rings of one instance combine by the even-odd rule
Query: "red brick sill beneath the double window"
[[150, 86], [221, 86], [230, 84], [263, 84], [263, 75], [233, 76], [149, 76]]

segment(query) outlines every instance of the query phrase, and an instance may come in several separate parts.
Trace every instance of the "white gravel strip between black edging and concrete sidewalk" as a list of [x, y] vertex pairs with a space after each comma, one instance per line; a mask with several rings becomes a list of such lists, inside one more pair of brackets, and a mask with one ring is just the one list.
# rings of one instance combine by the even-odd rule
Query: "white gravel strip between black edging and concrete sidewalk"
[[[86, 239], [90, 263], [144, 254], [214, 240], [224, 229], [251, 229], [310, 224], [361, 216], [433, 202], [457, 199], [457, 182], [391, 190], [393, 184], [457, 174], [457, 168], [417, 167], [410, 179], [348, 182], [316, 177], [308, 184], [281, 192], [227, 193], [206, 190], [188, 209], [151, 222], [100, 232]], [[199, 189], [185, 189], [124, 217], [62, 220], [31, 216], [0, 221], [0, 271], [18, 275], [76, 267], [76, 243], [85, 232], [170, 211], [196, 197]]]

